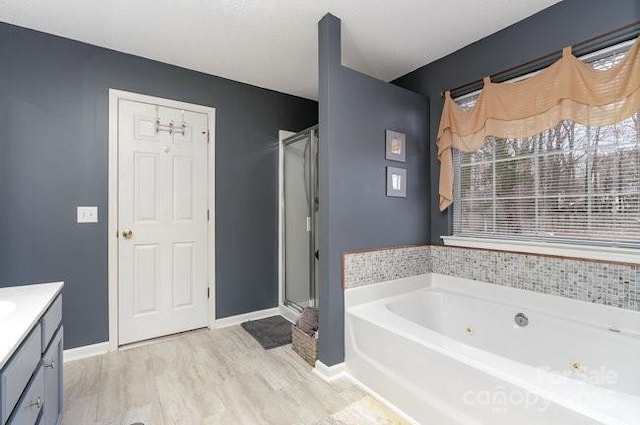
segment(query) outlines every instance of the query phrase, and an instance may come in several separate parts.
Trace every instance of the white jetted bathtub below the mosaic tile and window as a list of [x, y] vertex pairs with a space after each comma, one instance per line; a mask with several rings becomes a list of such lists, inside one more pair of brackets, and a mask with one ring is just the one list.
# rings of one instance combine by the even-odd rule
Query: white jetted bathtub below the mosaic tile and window
[[348, 373], [418, 423], [640, 424], [640, 313], [438, 274], [345, 301]]

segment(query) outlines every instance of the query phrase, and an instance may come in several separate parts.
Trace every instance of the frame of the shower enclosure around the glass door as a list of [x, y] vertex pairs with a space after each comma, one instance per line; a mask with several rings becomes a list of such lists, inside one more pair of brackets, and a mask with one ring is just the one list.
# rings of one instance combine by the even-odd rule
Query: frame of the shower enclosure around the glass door
[[[298, 133], [291, 132], [281, 132], [280, 134], [280, 184], [279, 184], [279, 201], [280, 201], [280, 214], [279, 214], [279, 304], [281, 306], [280, 310], [283, 312], [282, 307], [285, 307], [285, 310], [288, 309], [289, 312], [283, 313], [293, 313], [288, 316], [291, 319], [295, 319], [297, 315], [302, 311], [303, 306], [299, 305], [295, 302], [295, 300], [291, 300], [287, 297], [287, 250], [286, 250], [286, 191], [285, 191], [285, 150], [287, 146], [300, 142], [305, 138], [309, 139], [309, 146], [311, 152], [309, 154], [309, 181], [307, 182], [307, 187], [309, 188], [309, 199], [307, 201], [307, 208], [309, 211], [309, 220], [308, 231], [309, 233], [309, 241], [308, 241], [308, 254], [309, 254], [309, 274], [308, 274], [308, 299], [309, 305], [317, 307], [317, 282], [316, 282], [316, 273], [317, 273], [317, 249], [316, 249], [316, 220], [317, 220], [317, 212], [315, 208], [315, 202], [317, 199], [317, 155], [318, 155], [318, 125], [314, 125], [307, 129], [304, 129]], [[315, 139], [315, 140], [314, 140]], [[303, 173], [306, 172], [303, 169]]]

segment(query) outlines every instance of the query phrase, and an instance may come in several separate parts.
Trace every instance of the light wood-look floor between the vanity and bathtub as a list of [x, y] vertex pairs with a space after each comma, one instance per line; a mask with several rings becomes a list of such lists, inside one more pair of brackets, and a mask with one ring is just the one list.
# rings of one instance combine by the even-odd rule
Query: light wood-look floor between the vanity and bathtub
[[347, 379], [326, 383], [286, 345], [201, 330], [64, 365], [64, 425], [401, 424]]

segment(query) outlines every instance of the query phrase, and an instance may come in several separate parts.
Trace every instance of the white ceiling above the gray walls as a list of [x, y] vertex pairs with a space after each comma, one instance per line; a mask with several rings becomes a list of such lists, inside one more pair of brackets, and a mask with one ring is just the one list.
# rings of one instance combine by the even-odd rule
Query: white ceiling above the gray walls
[[559, 0], [0, 0], [0, 21], [316, 99], [317, 23], [390, 81]]

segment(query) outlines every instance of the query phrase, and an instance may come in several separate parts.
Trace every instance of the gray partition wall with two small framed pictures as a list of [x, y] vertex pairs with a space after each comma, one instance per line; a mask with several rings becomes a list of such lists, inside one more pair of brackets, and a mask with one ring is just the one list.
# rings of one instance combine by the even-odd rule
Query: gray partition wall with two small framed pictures
[[[345, 251], [428, 236], [427, 102], [341, 65], [340, 20], [319, 23], [320, 360], [344, 359]], [[385, 160], [385, 129], [407, 135], [407, 162]], [[385, 166], [407, 168], [407, 198], [385, 196]]]

